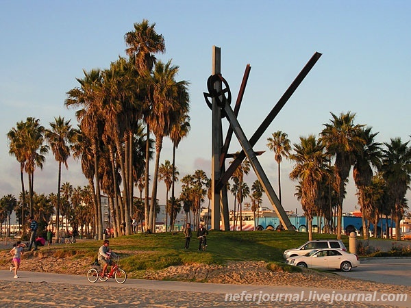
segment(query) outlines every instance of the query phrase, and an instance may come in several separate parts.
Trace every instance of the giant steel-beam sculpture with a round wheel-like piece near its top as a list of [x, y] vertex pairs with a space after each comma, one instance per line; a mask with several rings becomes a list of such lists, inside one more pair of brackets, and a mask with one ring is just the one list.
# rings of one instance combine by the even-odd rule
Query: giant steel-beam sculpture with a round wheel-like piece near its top
[[[208, 77], [207, 88], [208, 93], [204, 93], [204, 98], [206, 99], [207, 105], [212, 110], [212, 229], [220, 229], [220, 218], [221, 209], [223, 210], [223, 229], [229, 231], [229, 211], [228, 211], [228, 201], [227, 201], [227, 189], [226, 183], [230, 177], [232, 177], [234, 171], [241, 162], [247, 156], [254, 172], [258, 177], [258, 180], [262, 184], [266, 195], [269, 198], [271, 205], [273, 205], [275, 211], [279, 216], [283, 227], [286, 230], [293, 230], [292, 224], [286, 215], [286, 211], [282, 207], [277, 195], [275, 194], [271, 183], [266, 177], [260, 162], [258, 162], [257, 156], [263, 152], [253, 151], [253, 146], [258, 142], [264, 131], [273, 122], [275, 116], [284, 107], [288, 99], [290, 99], [292, 93], [297, 90], [299, 84], [308, 75], [311, 68], [316, 64], [317, 60], [321, 57], [321, 53], [314, 53], [311, 59], [307, 62], [306, 66], [303, 67], [299, 75], [292, 81], [292, 84], [288, 87], [286, 92], [279, 99], [277, 104], [273, 107], [273, 110], [268, 116], [262, 121], [260, 127], [251, 136], [249, 140], [242, 131], [240, 123], [238, 123], [238, 112], [240, 110], [240, 105], [242, 102], [242, 97], [244, 96], [245, 86], [247, 85], [247, 80], [249, 77], [249, 72], [251, 66], [247, 64], [245, 69], [245, 74], [242, 79], [242, 84], [240, 86], [240, 91], [238, 93], [236, 105], [234, 110], [231, 107], [232, 94], [229, 90], [228, 82], [221, 75], [221, 49], [219, 47], [213, 46], [213, 68], [212, 75]], [[224, 88], [223, 88], [224, 86]], [[211, 99], [211, 101], [210, 101]], [[223, 131], [222, 131], [222, 118], [227, 118], [229, 122], [229, 129], [223, 144]], [[229, 148], [229, 143], [232, 139], [233, 132], [236, 134], [238, 142], [242, 147], [242, 151], [238, 155], [230, 155], [227, 153]], [[225, 170], [225, 159], [227, 157], [235, 157], [229, 168]]]

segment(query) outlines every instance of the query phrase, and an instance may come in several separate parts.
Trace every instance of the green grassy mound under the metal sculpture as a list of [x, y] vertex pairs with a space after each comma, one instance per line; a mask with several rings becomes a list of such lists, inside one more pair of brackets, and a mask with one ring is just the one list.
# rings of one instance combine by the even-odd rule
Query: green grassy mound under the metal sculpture
[[[336, 238], [336, 235], [314, 234], [314, 240]], [[121, 267], [128, 272], [160, 270], [182, 264], [225, 264], [227, 261], [266, 261], [281, 264], [282, 253], [308, 240], [308, 233], [293, 231], [210, 231], [205, 253], [197, 251], [198, 240], [193, 237], [190, 248], [184, 249], [184, 235], [177, 233], [139, 233], [110, 240], [110, 248], [120, 252]], [[346, 246], [348, 239], [343, 238]], [[69, 246], [55, 246], [65, 251], [71, 248], [82, 254], [97, 254], [101, 241], [87, 241]]]

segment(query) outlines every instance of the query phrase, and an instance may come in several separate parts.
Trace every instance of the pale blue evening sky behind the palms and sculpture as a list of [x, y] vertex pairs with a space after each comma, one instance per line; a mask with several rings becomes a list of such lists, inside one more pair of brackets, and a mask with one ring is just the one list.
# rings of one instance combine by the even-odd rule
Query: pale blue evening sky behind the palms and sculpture
[[[21, 192], [19, 164], [8, 153], [8, 131], [27, 117], [49, 128], [62, 116], [76, 127], [75, 110], [64, 107], [66, 92], [79, 86], [76, 78], [84, 77], [83, 70], [105, 69], [126, 57], [124, 35], [143, 19], [155, 23], [164, 36], [166, 53], [157, 55], [158, 60], [172, 60], [179, 66], [177, 79], [190, 82], [191, 130], [176, 155], [180, 178], [198, 169], [211, 176], [211, 111], [203, 92], [212, 73], [213, 46], [221, 48], [221, 73], [233, 105], [245, 67], [251, 65], [238, 115], [247, 138], [310, 57], [316, 51], [323, 54], [253, 147], [265, 151], [258, 160], [275, 192], [277, 163], [266, 146], [275, 131], [287, 133], [294, 144], [300, 136], [318, 135], [331, 112], [353, 112], [356, 124], [378, 132], [378, 142], [410, 140], [410, 1], [0, 0], [0, 12], [0, 196]], [[223, 136], [227, 126], [223, 119]], [[229, 153], [240, 150], [234, 137]], [[160, 163], [165, 159], [172, 159], [169, 140]], [[87, 185], [79, 162], [70, 158], [68, 163], [62, 183]], [[291, 170], [292, 163], [284, 160], [282, 203], [302, 214], [294, 196], [296, 183], [288, 177]], [[255, 179], [251, 170], [246, 177], [250, 187]], [[57, 181], [58, 163], [50, 152], [34, 174], [34, 190], [56, 192]], [[158, 185], [160, 204], [165, 203], [164, 186]], [[410, 190], [407, 198], [411, 200]], [[350, 175], [343, 211], [353, 211], [357, 204]], [[263, 206], [273, 209], [266, 197]]]

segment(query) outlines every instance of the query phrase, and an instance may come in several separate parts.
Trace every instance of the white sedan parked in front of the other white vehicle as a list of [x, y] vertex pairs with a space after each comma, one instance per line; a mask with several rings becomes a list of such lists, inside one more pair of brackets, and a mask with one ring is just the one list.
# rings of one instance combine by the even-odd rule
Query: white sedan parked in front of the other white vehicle
[[340, 269], [349, 272], [360, 265], [358, 255], [339, 249], [316, 249], [306, 255], [297, 255], [286, 259], [286, 264], [300, 268]]

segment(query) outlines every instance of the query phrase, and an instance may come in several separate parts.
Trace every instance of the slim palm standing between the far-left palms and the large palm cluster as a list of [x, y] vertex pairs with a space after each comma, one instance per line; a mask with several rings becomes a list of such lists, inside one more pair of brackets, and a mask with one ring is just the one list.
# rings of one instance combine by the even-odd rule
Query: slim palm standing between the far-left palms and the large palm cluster
[[67, 164], [67, 159], [70, 157], [70, 145], [73, 142], [73, 129], [70, 124], [71, 120], [64, 120], [59, 116], [54, 118], [54, 122], [50, 122], [51, 129], [45, 130], [45, 137], [47, 142], [49, 142], [51, 151], [53, 152], [55, 160], [58, 162], [58, 186], [57, 186], [57, 206], [55, 209], [55, 214], [57, 216], [57, 231], [56, 236], [59, 237], [60, 232], [60, 187], [62, 180], [62, 164], [69, 169]]

